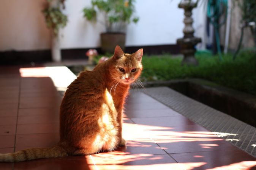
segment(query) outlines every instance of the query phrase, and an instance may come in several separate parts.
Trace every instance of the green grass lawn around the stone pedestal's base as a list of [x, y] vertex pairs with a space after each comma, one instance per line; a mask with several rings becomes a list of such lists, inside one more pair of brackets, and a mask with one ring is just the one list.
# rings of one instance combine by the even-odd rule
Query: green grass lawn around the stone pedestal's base
[[256, 51], [242, 51], [235, 60], [232, 55], [218, 56], [198, 54], [198, 66], [181, 66], [182, 58], [171, 55], [144, 56], [142, 81], [203, 78], [256, 95]]

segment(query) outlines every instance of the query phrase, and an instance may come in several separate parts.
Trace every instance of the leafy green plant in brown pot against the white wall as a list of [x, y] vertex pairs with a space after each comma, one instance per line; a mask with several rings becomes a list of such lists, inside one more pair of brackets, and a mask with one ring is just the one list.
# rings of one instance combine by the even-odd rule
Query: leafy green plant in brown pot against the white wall
[[[133, 17], [135, 0], [92, 0], [92, 7], [84, 8], [84, 17], [89, 21], [98, 21], [106, 28], [101, 33], [101, 50], [112, 53], [118, 44], [125, 48], [125, 28], [130, 22], [137, 23], [139, 18]], [[99, 19], [103, 14], [104, 21]]]

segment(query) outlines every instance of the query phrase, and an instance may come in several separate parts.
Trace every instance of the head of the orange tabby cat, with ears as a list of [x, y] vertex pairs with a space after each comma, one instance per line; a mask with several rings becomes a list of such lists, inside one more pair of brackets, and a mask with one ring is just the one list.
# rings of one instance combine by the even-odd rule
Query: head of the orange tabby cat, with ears
[[112, 64], [110, 67], [110, 74], [112, 78], [123, 84], [133, 83], [142, 71], [142, 55], [142, 48], [133, 54], [125, 54], [117, 45], [115, 47], [115, 53], [112, 57]]

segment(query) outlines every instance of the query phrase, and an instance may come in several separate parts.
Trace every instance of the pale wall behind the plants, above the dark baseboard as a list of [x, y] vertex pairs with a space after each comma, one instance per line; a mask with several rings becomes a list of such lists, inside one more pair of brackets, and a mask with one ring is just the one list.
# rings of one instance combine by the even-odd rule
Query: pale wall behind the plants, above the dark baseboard
[[[0, 51], [50, 48], [50, 32], [41, 13], [44, 2], [1, 0]], [[131, 23], [128, 26], [126, 46], [176, 44], [176, 39], [183, 36], [184, 28], [183, 9], [177, 7], [179, 2], [136, 0], [136, 16], [140, 19], [137, 24]], [[82, 9], [90, 6], [90, 0], [66, 0], [65, 4], [64, 13], [68, 15], [68, 24], [60, 31], [61, 47], [99, 47], [100, 33], [104, 32], [104, 26], [83, 18]]]

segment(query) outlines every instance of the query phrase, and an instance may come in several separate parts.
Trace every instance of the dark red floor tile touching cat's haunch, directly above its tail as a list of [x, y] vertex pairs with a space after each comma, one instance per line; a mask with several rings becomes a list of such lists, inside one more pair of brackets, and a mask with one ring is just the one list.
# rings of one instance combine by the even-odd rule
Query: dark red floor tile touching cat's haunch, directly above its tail
[[16, 136], [16, 147], [50, 147], [59, 139], [59, 133], [19, 134]]

